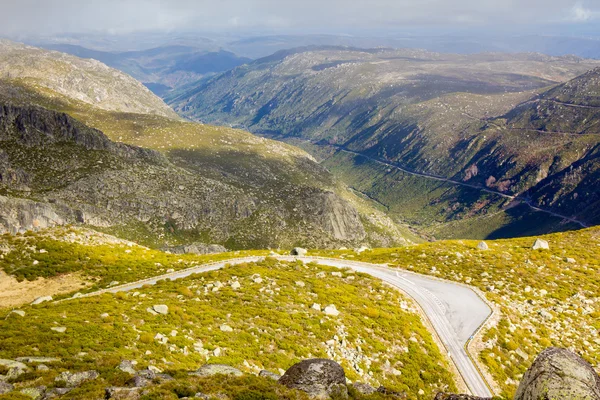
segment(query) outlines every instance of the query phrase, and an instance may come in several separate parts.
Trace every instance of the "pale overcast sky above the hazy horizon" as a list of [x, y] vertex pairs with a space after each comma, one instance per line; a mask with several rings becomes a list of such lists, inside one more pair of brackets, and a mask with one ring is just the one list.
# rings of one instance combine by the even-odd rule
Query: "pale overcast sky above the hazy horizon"
[[0, 0], [0, 35], [144, 30], [312, 33], [600, 22], [600, 0]]

